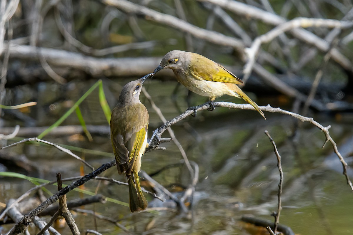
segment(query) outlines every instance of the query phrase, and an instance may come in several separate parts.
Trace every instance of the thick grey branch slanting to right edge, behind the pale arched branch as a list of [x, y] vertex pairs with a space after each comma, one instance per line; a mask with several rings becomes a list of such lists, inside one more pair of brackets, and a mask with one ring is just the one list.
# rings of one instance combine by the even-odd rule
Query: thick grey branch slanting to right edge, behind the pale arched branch
[[[250, 6], [238, 1], [229, 0], [197, 0], [200, 2], [210, 2], [212, 4], [218, 5], [229, 11], [232, 11], [238, 15], [245, 16], [246, 18], [259, 19], [264, 23], [271, 25], [280, 25], [286, 23], [287, 19], [280, 17], [276, 14], [270, 13], [268, 11], [261, 10], [260, 8]], [[293, 36], [297, 37], [301, 41], [308, 44], [312, 44], [321, 51], [329, 50], [329, 42], [316, 36], [310, 31], [304, 29], [293, 29], [291, 30]], [[339, 63], [344, 69], [352, 71], [351, 61], [344, 56], [339, 50], [335, 49], [332, 51], [332, 58]]]

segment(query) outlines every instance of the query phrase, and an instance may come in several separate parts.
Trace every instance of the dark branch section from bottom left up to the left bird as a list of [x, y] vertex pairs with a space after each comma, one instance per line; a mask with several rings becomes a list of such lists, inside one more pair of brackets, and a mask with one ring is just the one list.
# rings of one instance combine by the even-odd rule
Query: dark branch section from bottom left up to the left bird
[[108, 163], [105, 163], [101, 167], [97, 168], [95, 171], [92, 171], [91, 173], [84, 175], [82, 178], [74, 181], [73, 183], [71, 183], [70, 185], [66, 186], [65, 188], [63, 188], [59, 192], [55, 193], [53, 196], [51, 196], [50, 198], [45, 200], [42, 204], [37, 206], [37, 208], [35, 208], [31, 212], [29, 212], [27, 215], [25, 215], [24, 218], [12, 228], [12, 230], [9, 233], [9, 235], [22, 233], [24, 228], [26, 226], [28, 226], [33, 221], [35, 216], [37, 216], [41, 211], [46, 209], [49, 205], [51, 205], [54, 202], [56, 202], [61, 196], [63, 196], [66, 193], [70, 192], [74, 188], [83, 185], [88, 180], [96, 177], [100, 173], [106, 171], [107, 169], [109, 169], [109, 168], [111, 168], [111, 167], [113, 167], [115, 165], [116, 165], [115, 160], [113, 160], [111, 162], [108, 162]]

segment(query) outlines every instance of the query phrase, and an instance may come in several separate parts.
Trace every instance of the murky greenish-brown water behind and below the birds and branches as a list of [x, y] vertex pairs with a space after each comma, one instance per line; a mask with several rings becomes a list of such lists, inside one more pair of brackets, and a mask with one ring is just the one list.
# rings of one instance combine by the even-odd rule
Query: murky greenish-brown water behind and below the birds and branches
[[[103, 80], [110, 107], [114, 107], [120, 89], [127, 81], [128, 79]], [[66, 86], [41, 83], [36, 86], [18, 87], [8, 91], [8, 101], [13, 104], [38, 101], [37, 106], [22, 112], [31, 117], [35, 125], [48, 126], [64, 114], [94, 82], [72, 82]], [[179, 88], [175, 98], [177, 105], [171, 98], [175, 85], [173, 81], [157, 80], [146, 82], [145, 85], [167, 119], [177, 116], [180, 110], [187, 108], [185, 88]], [[239, 102], [238, 99], [231, 97], [222, 97], [218, 100]], [[150, 136], [152, 130], [158, 128], [162, 122], [143, 95], [141, 101], [150, 113]], [[190, 103], [201, 104], [204, 101], [204, 98], [194, 95]], [[289, 101], [279, 103], [276, 97], [259, 100], [258, 103], [291, 108]], [[97, 91], [80, 105], [80, 109], [86, 124], [107, 125], [99, 105]], [[270, 214], [277, 208], [279, 171], [276, 167], [273, 146], [264, 134], [264, 131], [268, 130], [282, 156], [284, 183], [280, 222], [291, 227], [296, 234], [352, 234], [352, 192], [341, 174], [341, 163], [333, 153], [332, 146], [327, 143], [322, 148], [325, 141], [323, 133], [308, 123], [300, 123], [300, 128], [296, 129], [298, 123], [291, 117], [272, 113], [265, 115], [267, 122], [255, 111], [216, 108], [213, 112], [199, 112], [196, 118], [188, 117], [173, 126], [175, 135], [189, 160], [195, 161], [200, 169], [193, 209], [189, 215], [179, 215], [163, 209], [157, 212], [131, 214], [126, 206], [113, 202], [96, 204], [95, 207], [88, 205], [83, 209], [94, 209], [101, 215], [121, 219], [122, 225], [137, 234], [259, 234], [258, 228], [239, 222], [239, 218], [242, 215], [252, 215], [273, 220]], [[325, 126], [331, 125], [331, 136], [342, 155], [351, 162], [352, 116], [315, 115], [314, 118]], [[8, 113], [4, 115], [3, 121], [5, 126], [33, 125], [13, 118]], [[79, 124], [75, 114], [62, 125], [69, 124]], [[169, 137], [168, 133], [165, 132], [163, 137]], [[57, 144], [112, 152], [108, 135], [93, 135], [93, 142], [78, 134], [48, 135], [44, 139]], [[17, 140], [9, 140], [7, 144]], [[155, 150], [144, 155], [142, 169], [147, 173], [154, 173], [163, 167], [177, 164], [182, 159], [173, 142], [161, 146], [167, 147], [167, 150]], [[57, 172], [61, 172], [64, 178], [80, 175], [80, 162], [55, 148], [22, 144], [11, 148], [10, 151], [24, 154], [39, 166], [41, 171], [26, 173], [29, 176], [53, 180]], [[84, 157], [95, 168], [113, 159], [109, 154], [73, 152]], [[2, 170], [5, 169], [1, 167]], [[86, 167], [83, 169], [85, 173], [90, 172]], [[13, 171], [23, 173], [19, 169]], [[351, 171], [349, 174], [353, 176]], [[115, 168], [102, 175], [124, 181]], [[154, 179], [176, 194], [190, 183], [186, 168], [180, 165], [161, 171]], [[0, 202], [6, 203], [10, 198], [17, 198], [32, 186], [28, 180], [0, 178]], [[51, 193], [56, 190], [55, 186], [49, 186], [47, 189]], [[98, 181], [91, 180], [84, 185], [84, 189], [90, 192], [97, 191], [121, 202], [128, 202], [128, 189], [123, 185], [106, 182], [99, 184]], [[49, 196], [46, 192], [44, 195]], [[72, 191], [67, 197], [71, 200], [88, 196]], [[153, 203], [150, 195], [146, 197], [150, 205], [166, 206]], [[100, 219], [95, 221], [91, 215], [75, 213], [74, 218], [82, 231], [97, 229], [102, 234], [125, 233], [112, 223]], [[0, 228], [0, 232], [4, 233], [10, 228], [11, 224], [4, 225]], [[62, 234], [71, 234], [67, 227], [59, 230]]]

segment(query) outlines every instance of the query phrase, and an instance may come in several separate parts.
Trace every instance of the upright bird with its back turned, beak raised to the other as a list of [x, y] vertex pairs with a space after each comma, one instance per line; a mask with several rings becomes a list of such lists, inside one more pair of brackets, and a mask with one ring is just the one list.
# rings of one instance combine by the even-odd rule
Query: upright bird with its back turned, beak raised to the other
[[140, 102], [139, 95], [143, 82], [153, 76], [126, 84], [120, 93], [119, 101], [110, 118], [110, 138], [119, 174], [125, 173], [129, 184], [130, 210], [142, 211], [147, 201], [142, 194], [138, 172], [141, 157], [147, 143], [147, 128], [150, 121], [146, 107]]

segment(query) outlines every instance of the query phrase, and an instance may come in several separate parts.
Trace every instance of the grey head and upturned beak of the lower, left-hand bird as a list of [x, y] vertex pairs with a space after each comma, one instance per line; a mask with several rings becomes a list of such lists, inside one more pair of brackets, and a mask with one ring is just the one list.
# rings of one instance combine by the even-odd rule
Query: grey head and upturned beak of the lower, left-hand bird
[[133, 104], [133, 103], [141, 103], [139, 100], [139, 96], [141, 93], [142, 85], [146, 81], [146, 79], [153, 76], [153, 73], [147, 74], [140, 79], [135, 81], [131, 81], [126, 84], [120, 93], [119, 103], [120, 104]]

